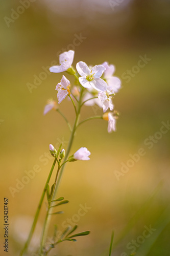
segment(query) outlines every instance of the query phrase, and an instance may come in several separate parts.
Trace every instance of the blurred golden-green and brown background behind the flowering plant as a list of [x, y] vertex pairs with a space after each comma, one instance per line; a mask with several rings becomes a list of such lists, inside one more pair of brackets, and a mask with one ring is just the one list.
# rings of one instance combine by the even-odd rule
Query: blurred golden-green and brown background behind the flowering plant
[[[55, 86], [62, 74], [46, 75], [32, 93], [28, 83], [33, 84], [43, 67], [58, 61], [62, 51], [71, 50], [78, 35], [84, 38], [74, 46], [74, 66], [81, 60], [116, 66], [122, 90], [114, 105], [120, 117], [117, 132], [112, 134], [107, 133], [106, 121], [80, 126], [71, 153], [85, 146], [91, 152], [90, 161], [66, 166], [58, 196], [70, 203], [62, 207], [64, 215], [53, 218], [49, 235], [53, 224], [60, 229], [63, 221], [78, 213], [80, 204], [91, 209], [77, 222], [78, 230], [91, 233], [77, 243], [62, 243], [50, 255], [108, 255], [114, 229], [113, 255], [127, 256], [135, 250], [136, 255], [168, 256], [170, 131], [151, 149], [144, 141], [160, 131], [162, 121], [169, 120], [170, 1], [36, 0], [20, 8], [23, 2], [1, 3], [1, 255], [6, 253], [4, 197], [9, 199], [8, 255], [13, 256], [27, 237], [53, 162], [49, 159], [44, 165], [39, 158], [48, 153], [50, 143], [63, 141], [66, 148], [69, 139], [67, 126], [57, 113], [43, 116], [46, 100], [57, 99]], [[150, 61], [134, 74], [139, 56], [145, 55]], [[130, 81], [125, 78], [128, 70], [134, 70]], [[60, 109], [73, 120], [69, 101], [64, 100]], [[84, 106], [81, 118], [95, 114], [102, 110]], [[118, 181], [115, 170], [120, 172], [122, 162], [126, 164], [140, 147], [146, 154]], [[16, 179], [21, 180], [36, 164], [41, 171], [12, 197], [9, 187], [16, 187]], [[39, 225], [44, 212], [45, 203]], [[134, 250], [127, 248], [132, 240], [141, 241], [144, 226], [150, 225], [156, 229], [151, 236], [137, 242]]]

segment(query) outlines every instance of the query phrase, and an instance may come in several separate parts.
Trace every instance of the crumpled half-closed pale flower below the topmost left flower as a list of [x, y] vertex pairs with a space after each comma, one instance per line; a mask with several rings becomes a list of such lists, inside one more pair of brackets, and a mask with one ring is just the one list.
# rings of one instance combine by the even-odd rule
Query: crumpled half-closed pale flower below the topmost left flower
[[70, 81], [65, 76], [62, 76], [61, 82], [59, 82], [56, 86], [56, 90], [58, 91], [58, 103], [61, 103], [61, 101], [65, 99], [67, 95], [70, 95], [69, 85]]

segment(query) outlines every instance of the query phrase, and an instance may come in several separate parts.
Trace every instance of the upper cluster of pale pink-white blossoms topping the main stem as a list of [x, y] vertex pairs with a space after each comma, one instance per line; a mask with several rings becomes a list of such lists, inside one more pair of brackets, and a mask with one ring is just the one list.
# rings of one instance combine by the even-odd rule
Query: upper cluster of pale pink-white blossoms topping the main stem
[[[97, 104], [105, 113], [103, 119], [108, 121], [108, 132], [116, 131], [116, 115], [113, 112], [114, 105], [112, 99], [121, 87], [121, 81], [113, 74], [115, 67], [109, 65], [108, 62], [103, 62], [101, 65], [94, 67], [87, 66], [83, 61], [79, 61], [76, 65], [77, 74], [72, 67], [75, 52], [70, 50], [59, 56], [59, 66], [53, 66], [50, 71], [53, 73], [61, 73], [66, 71], [70, 75], [74, 75], [76, 85], [71, 86], [70, 81], [63, 75], [61, 81], [57, 84], [56, 90], [58, 103], [60, 104], [66, 96], [72, 95], [77, 101], [79, 100], [81, 86], [85, 88], [83, 94], [83, 102], [86, 106]], [[57, 103], [53, 100], [45, 106], [44, 114], [51, 109], [57, 110]], [[107, 110], [111, 112], [106, 113]]]

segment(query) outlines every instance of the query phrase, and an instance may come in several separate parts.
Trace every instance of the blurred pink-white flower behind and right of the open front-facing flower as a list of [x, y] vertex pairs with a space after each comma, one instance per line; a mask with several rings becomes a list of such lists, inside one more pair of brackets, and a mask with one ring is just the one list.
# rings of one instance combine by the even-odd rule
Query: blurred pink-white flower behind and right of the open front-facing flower
[[121, 81], [118, 77], [113, 76], [115, 72], [115, 67], [113, 65], [108, 65], [108, 62], [102, 64], [105, 67], [105, 72], [103, 73], [104, 79], [110, 87], [112, 93], [117, 93], [121, 87]]

